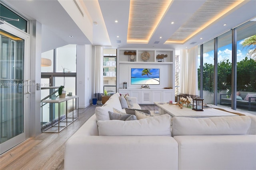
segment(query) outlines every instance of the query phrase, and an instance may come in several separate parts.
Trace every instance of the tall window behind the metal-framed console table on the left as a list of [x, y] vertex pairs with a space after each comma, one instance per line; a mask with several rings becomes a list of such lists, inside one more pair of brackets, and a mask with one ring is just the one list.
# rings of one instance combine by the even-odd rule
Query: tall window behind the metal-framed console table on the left
[[[59, 86], [64, 86], [66, 94], [72, 92], [76, 95], [76, 45], [65, 45], [57, 49], [46, 51], [41, 55], [41, 63], [44, 60], [47, 64], [41, 64], [41, 100], [50, 93], [58, 90]], [[48, 86], [56, 88], [48, 89]], [[58, 92], [56, 92], [56, 96]], [[45, 104], [43, 106], [42, 126], [46, 127], [48, 122], [58, 117], [58, 105]], [[66, 103], [61, 103], [61, 109], [65, 113]], [[72, 111], [73, 103], [68, 102], [68, 113]]]

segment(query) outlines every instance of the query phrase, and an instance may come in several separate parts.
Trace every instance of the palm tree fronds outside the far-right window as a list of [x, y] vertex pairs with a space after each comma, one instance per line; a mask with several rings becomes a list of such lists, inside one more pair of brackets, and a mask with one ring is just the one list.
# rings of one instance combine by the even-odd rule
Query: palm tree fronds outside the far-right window
[[248, 49], [248, 57], [256, 61], [256, 35], [246, 38], [242, 46]]

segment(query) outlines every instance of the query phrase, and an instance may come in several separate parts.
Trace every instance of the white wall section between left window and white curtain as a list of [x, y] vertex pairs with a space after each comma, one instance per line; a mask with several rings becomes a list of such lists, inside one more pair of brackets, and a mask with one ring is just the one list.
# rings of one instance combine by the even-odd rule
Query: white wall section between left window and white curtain
[[92, 102], [92, 45], [77, 45], [76, 94], [78, 108], [85, 108]]

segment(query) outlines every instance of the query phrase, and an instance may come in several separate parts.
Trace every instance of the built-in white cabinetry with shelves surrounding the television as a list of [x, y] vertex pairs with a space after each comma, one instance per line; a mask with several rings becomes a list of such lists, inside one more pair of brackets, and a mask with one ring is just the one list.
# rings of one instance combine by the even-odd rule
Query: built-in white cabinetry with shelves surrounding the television
[[[146, 58], [148, 60], [143, 60]], [[143, 56], [143, 57], [142, 57]], [[150, 88], [142, 88], [146, 84], [132, 84], [133, 68], [159, 69], [159, 84], [149, 84]], [[175, 56], [173, 49], [118, 49], [116, 86], [119, 93], [128, 93], [136, 97], [138, 104], [154, 104], [154, 102], [174, 101]], [[122, 89], [127, 82], [127, 89]], [[170, 89], [165, 89], [170, 88]]]

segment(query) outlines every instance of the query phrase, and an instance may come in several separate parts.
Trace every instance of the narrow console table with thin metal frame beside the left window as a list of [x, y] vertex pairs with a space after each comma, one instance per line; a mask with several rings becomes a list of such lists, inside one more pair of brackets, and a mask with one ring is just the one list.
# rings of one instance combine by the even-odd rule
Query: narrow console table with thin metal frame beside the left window
[[[42, 116], [41, 131], [42, 132], [60, 132], [63, 129], [65, 129], [68, 125], [70, 125], [73, 121], [78, 119], [78, 110], [77, 110], [77, 117], [74, 117], [74, 109], [72, 111], [72, 117], [68, 117], [68, 100], [72, 100], [73, 101], [73, 107], [72, 108], [74, 108], [74, 99], [78, 100], [78, 96], [66, 96], [65, 98], [56, 98], [54, 100], [52, 100], [52, 99], [43, 100], [42, 101], [42, 106], [43, 106], [43, 103], [58, 104], [58, 121], [56, 123], [54, 123], [53, 120], [52, 120], [51, 126], [43, 130], [43, 127], [42, 127], [43, 107], [41, 107], [41, 109], [42, 109], [41, 110], [41, 112], [42, 112], [42, 115], [41, 115]], [[62, 102], [66, 102], [66, 118], [63, 119], [63, 120], [60, 120], [60, 103], [62, 103]], [[77, 101], [77, 103], [78, 103], [78, 101]], [[77, 104], [76, 104], [76, 109], [77, 109]], [[65, 124], [64, 125], [60, 125], [60, 122], [65, 122]], [[51, 127], [57, 127], [58, 130], [57, 131], [49, 131], [48, 129], [50, 129]]]

